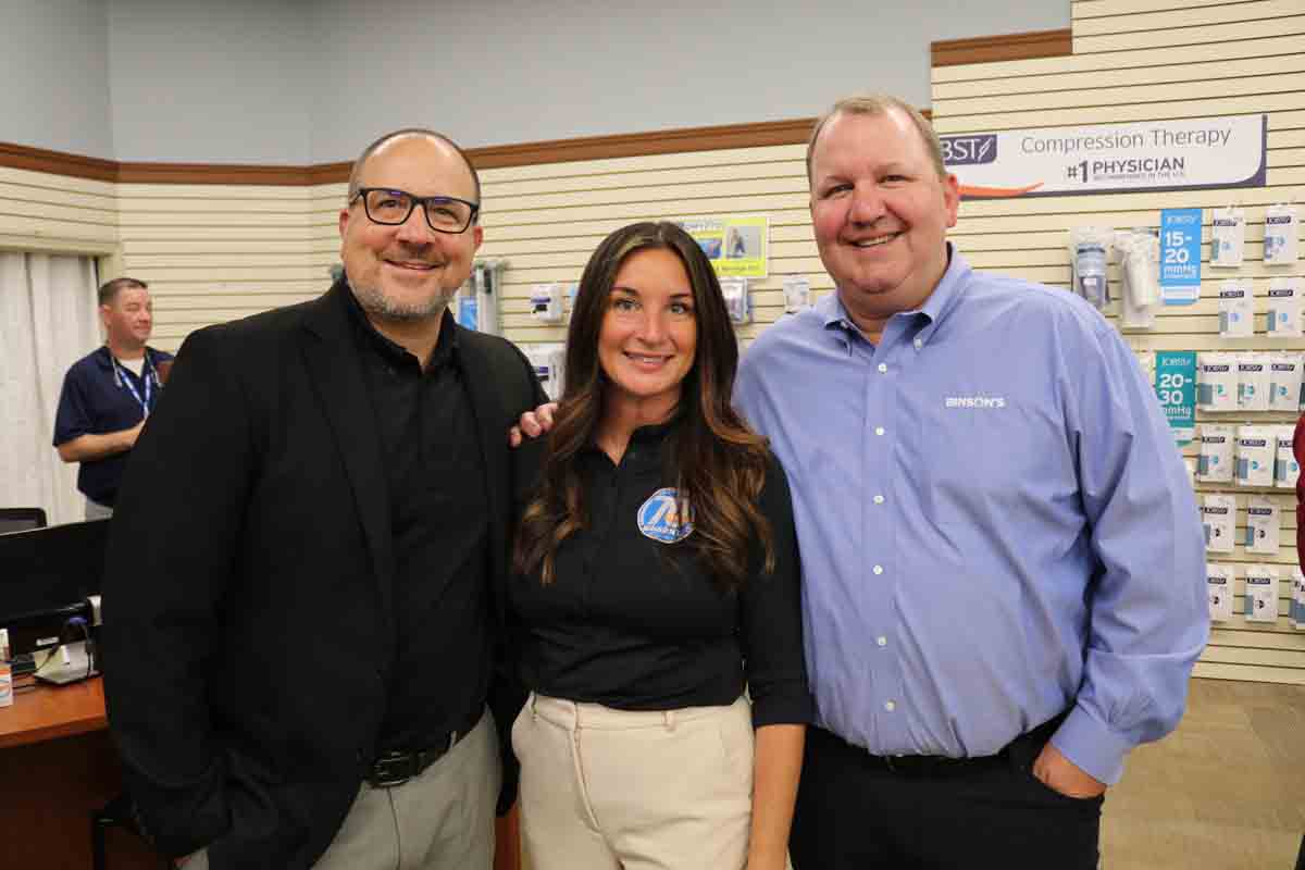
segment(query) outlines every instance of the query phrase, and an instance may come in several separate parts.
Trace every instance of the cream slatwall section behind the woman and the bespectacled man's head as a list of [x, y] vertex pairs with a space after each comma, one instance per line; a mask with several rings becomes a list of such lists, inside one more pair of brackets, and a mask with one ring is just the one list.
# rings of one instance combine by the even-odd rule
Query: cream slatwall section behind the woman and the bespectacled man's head
[[[565, 340], [566, 327], [535, 321], [535, 284], [576, 283], [603, 237], [628, 223], [675, 218], [766, 215], [770, 277], [752, 282], [753, 318], [745, 340], [783, 312], [783, 278], [806, 275], [833, 288], [816, 252], [806, 209], [805, 146], [783, 145], [484, 170], [484, 245], [479, 256], [505, 261], [500, 317], [518, 344]], [[339, 261], [343, 184], [312, 193], [312, 265]]]

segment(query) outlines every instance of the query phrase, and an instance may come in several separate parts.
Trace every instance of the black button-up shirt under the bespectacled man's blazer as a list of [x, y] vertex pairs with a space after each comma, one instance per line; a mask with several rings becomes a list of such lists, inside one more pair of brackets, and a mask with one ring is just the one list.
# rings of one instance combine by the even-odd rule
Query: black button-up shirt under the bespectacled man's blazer
[[376, 331], [348, 296], [376, 412], [394, 537], [389, 707], [378, 751], [419, 750], [463, 728], [491, 676], [484, 458], [448, 313], [431, 364]]

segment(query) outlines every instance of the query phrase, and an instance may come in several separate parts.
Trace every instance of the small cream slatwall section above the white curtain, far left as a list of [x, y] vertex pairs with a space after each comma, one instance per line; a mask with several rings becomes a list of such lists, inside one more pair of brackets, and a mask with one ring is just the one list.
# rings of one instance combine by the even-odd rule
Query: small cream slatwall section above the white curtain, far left
[[116, 245], [114, 183], [0, 166], [0, 248], [108, 254]]

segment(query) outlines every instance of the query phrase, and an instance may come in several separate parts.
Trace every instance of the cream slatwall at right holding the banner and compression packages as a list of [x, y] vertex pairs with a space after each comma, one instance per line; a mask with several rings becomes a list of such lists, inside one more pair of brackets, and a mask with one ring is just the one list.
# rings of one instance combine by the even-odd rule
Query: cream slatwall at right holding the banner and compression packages
[[[1156, 227], [1161, 209], [1199, 206], [1205, 209], [1201, 300], [1161, 308], [1154, 329], [1125, 333], [1128, 343], [1141, 356], [1163, 350], [1305, 352], [1305, 339], [1268, 338], [1263, 323], [1270, 279], [1305, 280], [1305, 260], [1293, 266], [1263, 262], [1266, 206], [1296, 202], [1305, 218], [1305, 7], [1300, 0], [1078, 0], [1073, 27], [1071, 56], [934, 69], [934, 127], [941, 133], [962, 133], [1267, 113], [1267, 185], [963, 202], [953, 241], [979, 269], [1067, 292], [1071, 227]], [[1246, 214], [1245, 262], [1237, 269], [1212, 269], [1211, 209], [1227, 205], [1240, 205]], [[1117, 278], [1112, 263], [1114, 296]], [[1218, 290], [1231, 278], [1253, 287], [1253, 338], [1219, 337]], [[1117, 304], [1104, 313], [1118, 322]], [[1198, 423], [1295, 421], [1295, 413], [1198, 412]], [[1199, 451], [1191, 443], [1181, 453], [1194, 463]], [[1198, 500], [1205, 493], [1237, 496], [1238, 543], [1232, 553], [1207, 554], [1210, 562], [1235, 567], [1235, 613], [1241, 613], [1248, 565], [1275, 565], [1280, 577], [1278, 621], [1248, 622], [1235, 616], [1214, 623], [1197, 676], [1305, 685], [1305, 631], [1293, 630], [1288, 618], [1297, 557], [1295, 493], [1214, 484], [1195, 484], [1195, 489]], [[1267, 494], [1280, 507], [1276, 554], [1248, 553], [1240, 543], [1251, 494]]]

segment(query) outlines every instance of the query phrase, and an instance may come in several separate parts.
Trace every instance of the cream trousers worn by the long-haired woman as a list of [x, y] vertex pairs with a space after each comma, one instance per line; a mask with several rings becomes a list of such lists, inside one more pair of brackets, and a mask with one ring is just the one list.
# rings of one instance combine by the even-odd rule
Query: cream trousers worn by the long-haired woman
[[737, 870], [752, 710], [626, 712], [531, 695], [512, 729], [534, 870]]

